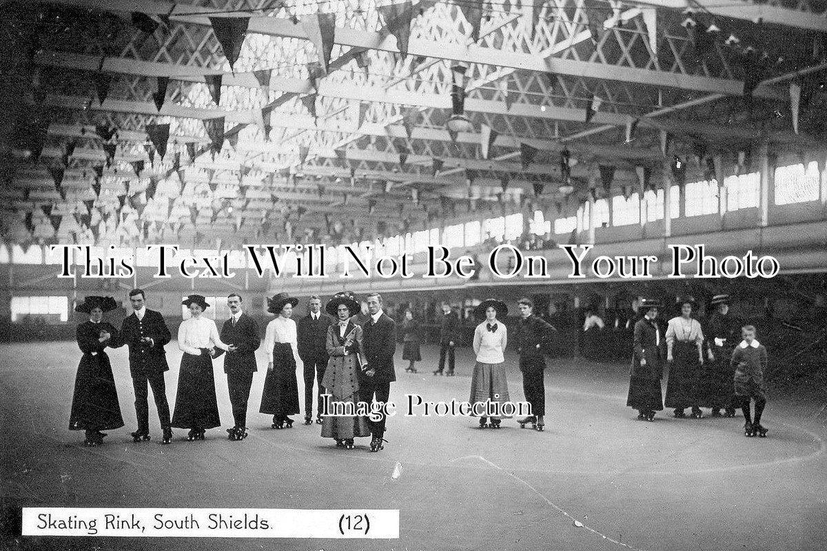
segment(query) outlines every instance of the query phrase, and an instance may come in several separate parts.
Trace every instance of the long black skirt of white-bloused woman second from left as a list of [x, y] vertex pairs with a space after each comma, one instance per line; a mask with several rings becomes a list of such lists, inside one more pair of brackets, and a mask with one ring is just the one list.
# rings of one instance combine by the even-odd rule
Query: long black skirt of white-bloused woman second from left
[[215, 396], [213, 359], [206, 349], [200, 356], [184, 354], [178, 373], [178, 391], [172, 426], [177, 429], [213, 429], [221, 425]]

